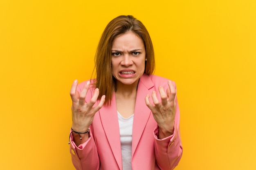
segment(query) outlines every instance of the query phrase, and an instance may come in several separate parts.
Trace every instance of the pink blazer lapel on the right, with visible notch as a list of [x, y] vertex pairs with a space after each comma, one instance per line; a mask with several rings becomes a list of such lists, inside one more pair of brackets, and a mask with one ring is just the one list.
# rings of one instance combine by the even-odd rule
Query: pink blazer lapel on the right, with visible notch
[[[145, 97], [147, 94], [151, 94], [153, 92], [153, 86], [154, 84], [148, 75], [144, 74], [139, 79], [132, 127], [132, 155], [138, 146], [141, 135], [151, 115], [151, 110], [146, 106]], [[152, 103], [151, 97], [150, 102]]]

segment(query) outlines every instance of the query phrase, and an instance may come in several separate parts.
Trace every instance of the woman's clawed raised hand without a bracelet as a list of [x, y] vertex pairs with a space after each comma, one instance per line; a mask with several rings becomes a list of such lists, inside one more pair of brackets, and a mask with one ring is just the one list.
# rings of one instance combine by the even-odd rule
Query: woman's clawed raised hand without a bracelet
[[173, 134], [175, 119], [175, 96], [176, 90], [174, 84], [169, 80], [166, 93], [164, 88], [159, 86], [159, 94], [162, 101], [158, 101], [155, 91], [152, 93], [153, 104], [149, 102], [149, 94], [145, 97], [148, 108], [152, 111], [155, 121], [159, 126], [159, 139], [163, 139]]

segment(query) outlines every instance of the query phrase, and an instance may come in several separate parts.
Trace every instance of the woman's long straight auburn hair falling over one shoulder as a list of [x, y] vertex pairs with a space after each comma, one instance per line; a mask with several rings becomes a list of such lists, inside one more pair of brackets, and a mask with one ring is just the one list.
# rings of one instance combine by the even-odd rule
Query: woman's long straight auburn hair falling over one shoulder
[[118, 36], [132, 32], [139, 36], [145, 46], [146, 59], [144, 73], [149, 75], [155, 71], [155, 55], [153, 44], [146, 27], [132, 15], [120, 15], [111, 20], [104, 29], [95, 54], [96, 68], [95, 88], [99, 88], [99, 97], [106, 95], [105, 104], [111, 104], [113, 92], [116, 89], [115, 77], [112, 76], [112, 44]]

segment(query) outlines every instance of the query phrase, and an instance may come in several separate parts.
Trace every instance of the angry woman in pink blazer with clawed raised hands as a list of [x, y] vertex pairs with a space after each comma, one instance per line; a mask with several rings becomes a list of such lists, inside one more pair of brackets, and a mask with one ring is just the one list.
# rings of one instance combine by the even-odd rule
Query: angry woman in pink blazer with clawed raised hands
[[[152, 75], [145, 26], [119, 16], [95, 55], [97, 78], [72, 84], [70, 152], [77, 170], [172, 170], [182, 156], [176, 86]], [[150, 97], [151, 95], [151, 97]]]

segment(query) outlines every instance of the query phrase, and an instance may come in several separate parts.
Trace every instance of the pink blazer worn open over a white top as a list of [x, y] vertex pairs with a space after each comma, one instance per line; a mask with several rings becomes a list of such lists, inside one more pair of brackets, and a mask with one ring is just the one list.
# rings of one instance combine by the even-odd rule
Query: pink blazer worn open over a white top
[[[93, 81], [93, 80], [92, 80]], [[168, 88], [168, 79], [156, 75], [142, 75], [139, 79], [132, 128], [132, 170], [173, 170], [182, 157], [180, 139], [180, 109], [176, 97], [175, 127], [173, 135], [157, 139], [158, 126], [145, 104], [145, 97], [158, 87]], [[81, 92], [85, 82], [79, 84]], [[158, 93], [157, 93], [158, 94]], [[88, 102], [93, 95], [91, 88], [86, 96]], [[157, 96], [160, 100], [160, 96]], [[151, 103], [152, 102], [152, 98]], [[104, 105], [90, 126], [89, 139], [76, 147], [71, 135], [70, 153], [77, 170], [122, 170], [121, 143], [117, 118], [115, 94], [111, 106]]]

